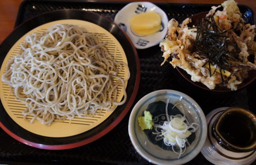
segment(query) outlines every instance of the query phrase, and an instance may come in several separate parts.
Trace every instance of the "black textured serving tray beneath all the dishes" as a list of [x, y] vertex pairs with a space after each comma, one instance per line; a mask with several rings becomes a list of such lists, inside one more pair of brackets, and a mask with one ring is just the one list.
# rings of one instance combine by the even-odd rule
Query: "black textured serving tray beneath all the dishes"
[[[128, 2], [95, 1], [24, 1], [19, 8], [15, 27], [44, 12], [60, 9], [92, 11], [114, 20], [116, 13]], [[212, 5], [156, 3], [166, 12], [168, 19], [181, 22], [195, 13], [209, 11]], [[251, 8], [239, 5], [246, 21], [254, 24]], [[163, 61], [159, 46], [137, 50], [140, 57], [141, 80], [134, 104], [147, 93], [172, 89], [188, 94], [203, 109], [205, 115], [219, 107], [244, 107], [256, 112], [256, 81], [246, 88], [227, 92], [205, 91], [188, 83], [170, 64]], [[130, 110], [131, 111], [131, 110]], [[150, 164], [143, 159], [131, 144], [128, 134], [130, 112], [112, 131], [100, 139], [75, 149], [50, 151], [37, 149], [14, 140], [0, 129], [0, 163], [6, 164]], [[201, 153], [186, 164], [212, 164]], [[253, 164], [256, 164], [254, 162]]]

